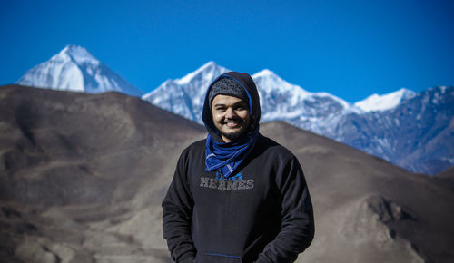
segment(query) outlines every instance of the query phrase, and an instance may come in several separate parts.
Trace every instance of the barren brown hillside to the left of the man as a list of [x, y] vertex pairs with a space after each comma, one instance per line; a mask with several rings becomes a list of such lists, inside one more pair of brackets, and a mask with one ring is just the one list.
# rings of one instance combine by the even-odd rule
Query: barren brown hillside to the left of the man
[[121, 93], [5, 86], [0, 109], [3, 262], [168, 262], [160, 203], [201, 126]]

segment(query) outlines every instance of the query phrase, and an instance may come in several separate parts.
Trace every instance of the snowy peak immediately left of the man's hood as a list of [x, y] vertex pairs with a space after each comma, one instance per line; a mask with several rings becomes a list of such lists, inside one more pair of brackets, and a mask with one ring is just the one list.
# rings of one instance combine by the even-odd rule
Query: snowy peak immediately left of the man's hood
[[181, 79], [167, 80], [142, 99], [169, 112], [202, 123], [202, 106], [208, 85], [228, 69], [214, 62], [205, 63], [201, 68], [188, 73]]

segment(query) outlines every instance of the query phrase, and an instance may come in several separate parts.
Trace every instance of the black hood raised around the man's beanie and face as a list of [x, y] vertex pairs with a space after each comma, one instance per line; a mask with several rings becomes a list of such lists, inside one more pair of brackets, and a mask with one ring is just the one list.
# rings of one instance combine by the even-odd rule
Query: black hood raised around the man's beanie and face
[[212, 138], [216, 141], [222, 141], [221, 136], [218, 132], [218, 129], [214, 126], [212, 122], [212, 109], [210, 108], [210, 91], [212, 90], [212, 84], [217, 82], [222, 78], [231, 78], [232, 80], [240, 83], [242, 88], [246, 91], [249, 97], [249, 113], [251, 114], [251, 124], [249, 126], [248, 132], [251, 132], [255, 129], [259, 129], [260, 122], [260, 98], [259, 92], [257, 91], [257, 86], [255, 85], [252, 77], [247, 73], [223, 73], [219, 75], [208, 87], [208, 90], [205, 94], [205, 101], [203, 102], [203, 111], [202, 111], [202, 121], [205, 124], [206, 130], [210, 133]]

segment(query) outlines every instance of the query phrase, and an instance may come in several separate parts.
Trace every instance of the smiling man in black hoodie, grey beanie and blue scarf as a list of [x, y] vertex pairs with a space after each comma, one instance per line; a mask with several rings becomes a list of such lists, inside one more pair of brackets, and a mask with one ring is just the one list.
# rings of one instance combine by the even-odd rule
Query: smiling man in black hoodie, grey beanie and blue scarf
[[314, 235], [311, 197], [296, 157], [259, 133], [249, 74], [208, 88], [208, 136], [186, 148], [163, 200], [163, 236], [175, 262], [293, 262]]

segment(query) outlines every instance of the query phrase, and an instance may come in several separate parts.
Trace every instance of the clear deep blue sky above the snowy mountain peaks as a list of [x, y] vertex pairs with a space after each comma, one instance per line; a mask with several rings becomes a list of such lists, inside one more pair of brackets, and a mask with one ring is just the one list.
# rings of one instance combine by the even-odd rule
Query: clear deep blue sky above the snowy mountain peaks
[[214, 61], [348, 102], [454, 84], [454, 1], [0, 2], [0, 84], [66, 44], [144, 93]]

